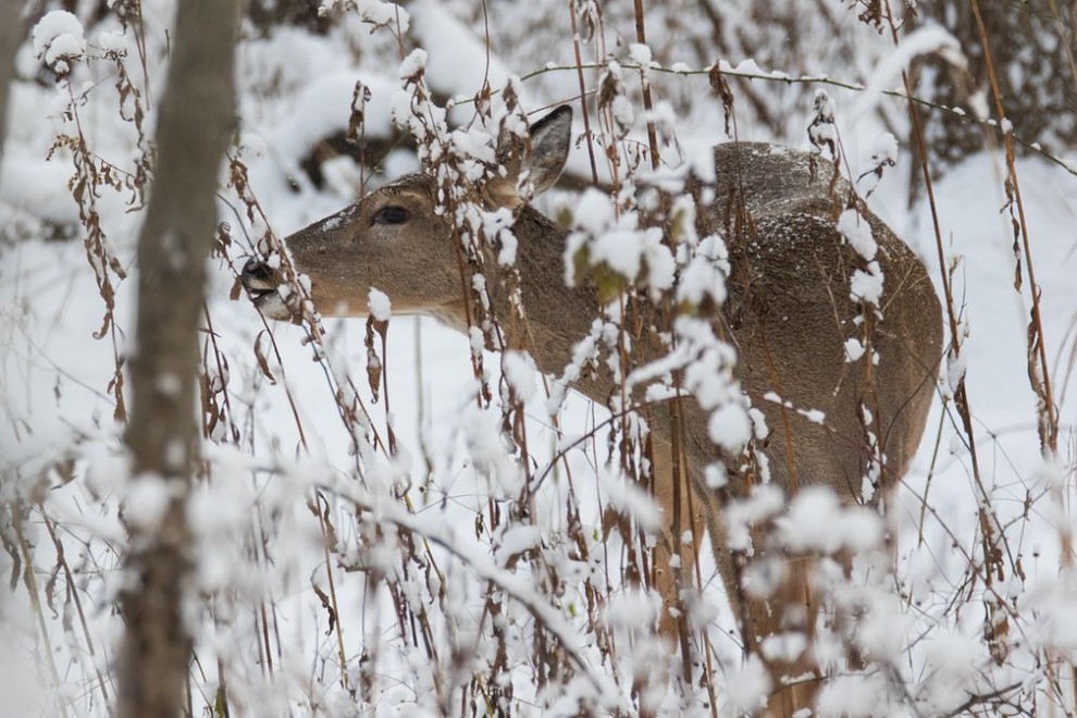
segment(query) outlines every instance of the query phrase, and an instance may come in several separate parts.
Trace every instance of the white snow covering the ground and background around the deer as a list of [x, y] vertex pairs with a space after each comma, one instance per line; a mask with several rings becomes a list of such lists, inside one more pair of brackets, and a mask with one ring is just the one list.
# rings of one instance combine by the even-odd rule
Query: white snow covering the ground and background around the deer
[[[358, 4], [359, 10], [332, 9], [337, 20], [324, 36], [284, 26], [262, 36], [248, 24], [239, 44], [238, 151], [250, 169], [251, 191], [278, 236], [356, 199], [360, 172], [347, 158], [324, 166], [323, 189], [311, 185], [299, 163], [319, 139], [347, 127], [357, 79], [372, 91], [367, 134], [385, 137], [392, 132], [389, 108], [398, 101], [394, 96], [403, 91], [398, 66], [408, 51], [391, 29], [372, 32], [364, 20], [393, 17], [396, 23], [409, 18], [410, 27], [400, 27], [409, 41], [428, 51], [426, 81], [445, 97], [471, 98], [484, 77], [493, 88], [500, 88], [510, 73], [523, 76], [547, 64], [571, 66], [573, 62], [568, 13], [558, 3], [554, 3], [557, 9], [544, 3], [520, 3], [527, 8], [490, 3], [490, 53], [483, 25], [474, 22], [472, 10], [463, 3], [420, 0], [408, 4], [406, 12], [374, 0]], [[48, 157], [55, 134], [71, 128], [71, 121], [61, 113], [75, 96], [81, 129], [92, 151], [117, 168], [129, 171], [133, 166], [139, 151], [136, 135], [132, 123], [120, 116], [113, 89], [115, 65], [102, 54], [107, 49], [126, 50], [126, 66], [143, 89], [140, 99], [149, 108], [147, 126], [152, 127], [153, 102], [164, 91], [165, 30], [172, 3], [147, 0], [143, 13], [145, 64], [138, 60], [133, 32], [124, 33], [111, 15], [92, 26], [71, 16], [49, 16], [38, 26], [37, 41], [27, 41], [17, 58], [18, 76], [11, 91], [9, 136], [0, 165], [0, 500], [29, 507], [20, 529], [27, 540], [21, 549], [33, 556], [36, 579], [28, 582], [22, 573], [13, 574], [12, 556], [0, 552], [0, 575], [7, 584], [0, 591], [0, 713], [5, 716], [108, 714], [115, 695], [109, 665], [122, 631], [122, 620], [112, 608], [124, 581], [117, 553], [125, 533], [117, 508], [126, 502], [126, 510], [137, 517], [138, 511], [151, 511], [146, 504], [154, 500], [152, 495], [132, 491], [127, 483], [122, 426], [113, 421], [115, 403], [108, 389], [115, 358], [129, 349], [133, 339], [135, 244], [143, 213], [126, 211], [129, 193], [103, 189], [97, 199], [101, 226], [128, 276], [117, 283], [116, 331], [96, 339], [92, 334], [101, 325], [104, 305], [81, 242], [84, 230], [67, 186], [73, 173], [71, 156], [61, 150]], [[748, 74], [775, 70], [794, 77], [805, 73], [866, 84], [868, 89], [855, 91], [819, 86], [837, 104], [845, 152], [858, 173], [868, 166], [878, 137], [893, 129], [883, 126], [882, 117], [896, 117], [907, 135], [902, 103], [879, 90], [900, 85], [899, 72], [915, 52], [911, 47], [895, 51], [888, 38], [858, 25], [853, 12], [840, 9], [834, 16], [843, 32], [859, 42], [853, 65], [813, 66], [813, 61], [826, 61], [821, 50], [819, 58], [805, 60], [807, 66], [759, 70], [751, 58], [723, 60], [730, 69], [740, 65]], [[619, 17], [612, 11], [607, 17], [604, 51], [631, 65], [641, 59], [641, 50], [629, 49], [634, 40], [629, 22], [614, 27]], [[681, 60], [679, 37], [661, 9], [648, 22], [652, 44], [661, 48], [661, 63], [672, 66]], [[53, 82], [38, 57], [48, 47], [44, 38], [50, 33], [62, 42], [53, 42], [51, 51], [72, 55], [72, 72], [60, 83]], [[939, 29], [914, 37], [909, 46], [916, 42], [921, 49], [937, 50], [948, 40]], [[705, 69], [694, 55], [683, 62], [684, 69]], [[728, 139], [720, 102], [710, 95], [705, 73], [654, 72], [653, 76], [660, 96], [677, 98], [682, 102], [679, 107], [690, 108], [688, 112], [670, 109], [666, 114], [683, 152], [682, 158], [667, 152], [667, 161], [686, 161]], [[593, 85], [594, 72], [586, 77]], [[637, 75], [630, 71], [624, 71], [624, 78], [637, 83]], [[753, 86], [765, 82], [753, 81]], [[574, 71], [549, 70], [524, 79], [521, 86], [528, 110], [572, 101], [579, 92]], [[750, 119], [739, 117], [741, 138], [807, 148], [810, 102], [794, 103], [780, 92], [773, 97], [775, 107], [788, 116], [788, 134], [767, 136]], [[466, 122], [470, 115], [470, 107], [461, 103], [449, 119]], [[636, 106], [635, 137], [645, 141], [642, 117], [642, 107]], [[579, 114], [577, 123], [579, 136]], [[869, 205], [924, 258], [938, 286], [943, 268], [939, 267], [930, 212], [923, 193], [908, 207], [907, 178], [913, 168], [907, 136], [900, 141], [898, 165], [887, 173]], [[1068, 159], [1074, 158], [1062, 158]], [[388, 176], [418, 166], [418, 158], [408, 150], [394, 152], [385, 162]], [[580, 176], [590, 173], [582, 145], [573, 144], [569, 168]], [[1077, 661], [1077, 577], [1073, 556], [1063, 553], [1062, 538], [1074, 523], [1075, 413], [1067, 389], [1077, 344], [1077, 163], [1068, 168], [1036, 157], [1017, 161], [1062, 422], [1059, 454], [1050, 461], [1041, 454], [1036, 398], [1027, 379], [1029, 289], [1027, 278], [1022, 292], [1013, 283], [1004, 158], [1001, 152], [974, 156], [934, 187], [945, 269], [956, 263], [953, 294], [968, 331], [966, 380], [982, 480], [1006, 529], [1008, 550], [1019, 555], [1025, 574], [1006, 573], [991, 586], [1019, 617], [1010, 621], [1010, 653], [1001, 665], [995, 663], [983, 637], [986, 589], [969, 578], [975, 572], [970, 566], [982, 565], [980, 494], [952, 403], [944, 408], [937, 399], [919, 455], [891, 506], [896, 579], [883, 582], [889, 594], [877, 597], [881, 603], [874, 641], [881, 654], [890, 652], [887, 659], [899, 678], [871, 674], [842, 683], [840, 692], [825, 693], [829, 703], [822, 706], [824, 713], [950, 715], [963, 709], [973, 695], [999, 692], [1011, 701], [1014, 713], [1042, 709], [1043, 715], [1072, 715], [1073, 698], [1057, 693], [1059, 685], [1072, 691], [1072, 673], [1055, 674], [1060, 667]], [[295, 186], [289, 185], [289, 177]], [[242, 209], [235, 211], [238, 199], [224, 188], [225, 181], [222, 174], [221, 219], [232, 225], [238, 245], [233, 247], [233, 260], [240, 267], [244, 234], [259, 227], [247, 226]], [[573, 201], [572, 195], [557, 190], [543, 207], [553, 211]], [[50, 238], [58, 232], [70, 238]], [[356, 548], [362, 545], [356, 535], [344, 535], [358, 531], [348, 523], [352, 509], [347, 502], [329, 499], [343, 548], [333, 556], [324, 549], [324, 529], [308, 503], [313, 500], [314, 486], [333, 486], [338, 496], [347, 496], [347, 478], [359, 461], [349, 456], [351, 438], [337, 414], [325, 364], [312, 361], [302, 330], [272, 324], [269, 329], [280, 361], [268, 348], [267, 337], [258, 338], [276, 379], [272, 383], [252, 349], [265, 324], [246, 298], [230, 299], [233, 268], [221, 259], [210, 260], [209, 265], [207, 311], [219, 350], [228, 363], [231, 417], [242, 438], [234, 445], [222, 432], [216, 442], [206, 442], [208, 478], [190, 502], [199, 542], [195, 550], [199, 598], [191, 602], [188, 616], [197, 636], [190, 697], [195, 711], [208, 715], [214, 710], [223, 672], [232, 709], [239, 715], [437, 715], [446, 705], [441, 692], [448, 690], [438, 681], [463, 685], [472, 672], [481, 670], [469, 664], [457, 667], [461, 674], [453, 674], [447, 668], [455, 665], [450, 656], [430, 659], [410, 636], [399, 635], [386, 589], [362, 578], [368, 574], [345, 570], [345, 565], [376, 565], [391, 573], [399, 571], [392, 541], [368, 544], [363, 550], [370, 555], [364, 555]], [[392, 300], [392, 287], [380, 288]], [[361, 457], [364, 475], [382, 482], [386, 491], [400, 484], [403, 476], [411, 478], [413, 511], [405, 511], [403, 504], [383, 508], [388, 517], [385, 525], [405, 532], [410, 521], [414, 535], [441, 540], [453, 548], [433, 549], [445, 590], [460, 602], [455, 606], [457, 615], [432, 619], [441, 631], [434, 636], [435, 653], [473, 645], [475, 660], [483, 660], [478, 656], [484, 651], [488, 627], [479, 618], [482, 592], [486, 581], [499, 574], [505, 591], [521, 597], [508, 602], [517, 606], [512, 609], [517, 612], [506, 617], [518, 629], [516, 643], [510, 641], [510, 649], [517, 653], [509, 658], [510, 665], [519, 667], [510, 671], [513, 710], [573, 715], [581, 705], [599, 713], [637, 709], [640, 698], [630, 691], [630, 678], [659, 664], [648, 663], [658, 660], [648, 653], [653, 645], [632, 631], [642, 616], [657, 610], [654, 597], [641, 598], [630, 591], [611, 594], [615, 601], [604, 620], [618, 635], [633, 637], [622, 639], [621, 653], [610, 659], [601, 655], [594, 636], [580, 628], [580, 614], [568, 608], [573, 601], [582, 601], [579, 596], [562, 598], [558, 612], [543, 603], [519, 570], [506, 568], [510, 554], [533, 547], [540, 540], [549, 541], [566, 529], [564, 505], [569, 488], [564, 469], [554, 472], [556, 480], [546, 482], [536, 497], [541, 508], [537, 533], [519, 528], [515, 535], [483, 533], [476, 538], [476, 517], [487, 511], [487, 497], [504, 498], [513, 492], [502, 485], [511, 475], [509, 468], [476, 471], [475, 463], [512, 459], [498, 436], [499, 410], [475, 406], [467, 337], [432, 319], [393, 317], [385, 357], [388, 401], [382, 397], [373, 403], [366, 381], [364, 320], [326, 319], [325, 327], [334, 371], [351, 375], [380, 432], [386, 426], [384, 409], [392, 407], [399, 456], [389, 460], [367, 451]], [[215, 374], [215, 362], [207, 363]], [[499, 361], [487, 357], [486, 366], [497, 372]], [[538, 466], [548, 462], [559, 445], [569, 444], [608, 416], [604, 408], [573, 396], [560, 414], [559, 437], [541, 387], [528, 407], [529, 446]], [[569, 461], [582, 521], [591, 528], [585, 533], [595, 536], [597, 546], [601, 507], [610, 500], [631, 504], [633, 499], [617, 498], [626, 492], [623, 481], [615, 469], [602, 466], [604, 434], [599, 432], [595, 443], [597, 447], [589, 449], [585, 444], [571, 451]], [[645, 515], [647, 509], [639, 510]], [[807, 519], [819, 525], [829, 525], [829, 513]], [[57, 568], [57, 542], [64, 547], [74, 575]], [[351, 555], [349, 546], [355, 552]], [[617, 550], [611, 548], [610, 554]], [[704, 547], [703, 556], [719, 713], [735, 715], [758, 701], [758, 674], [740, 659], [721, 581], [708, 559], [709, 547]], [[616, 566], [612, 573], [617, 574]], [[440, 610], [428, 596], [429, 582], [420, 587], [422, 581], [416, 577], [397, 575], [395, 581], [416, 593], [414, 605]], [[315, 587], [335, 591], [339, 633], [335, 628], [329, 630]], [[573, 651], [587, 667], [578, 671], [583, 678], [577, 683], [542, 685], [534, 676], [529, 663], [532, 646], [523, 637], [534, 630], [525, 626], [532, 615], [524, 606], [529, 601], [545, 606], [542, 610], [556, 621], [554, 629], [566, 631], [566, 641], [577, 640]], [[456, 628], [446, 628], [449, 624]], [[263, 635], [267, 630], [274, 634]], [[459, 635], [460, 631], [466, 635]], [[636, 647], [627, 648], [630, 643]], [[339, 652], [346, 656], [344, 669]], [[370, 676], [360, 667], [368, 660], [375, 666]], [[471, 656], [466, 656], [465, 663], [469, 660]], [[663, 678], [658, 669], [653, 672], [654, 694], [648, 705], [667, 714], [710, 714], [697, 686]], [[342, 685], [358, 685], [361, 674], [372, 677], [372, 684], [369, 694], [360, 691], [362, 695], [356, 698]], [[895, 686], [903, 686], [904, 693]], [[470, 713], [460, 693], [451, 695], [454, 711]], [[1048, 713], [1048, 705], [1059, 713]], [[486, 709], [478, 708], [480, 713]], [[1004, 711], [977, 708], [985, 715], [993, 709]]]

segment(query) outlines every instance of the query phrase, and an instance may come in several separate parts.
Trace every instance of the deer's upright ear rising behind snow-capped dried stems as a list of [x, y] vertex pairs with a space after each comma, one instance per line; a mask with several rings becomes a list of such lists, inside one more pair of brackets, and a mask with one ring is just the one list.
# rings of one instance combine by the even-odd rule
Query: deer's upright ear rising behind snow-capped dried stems
[[527, 156], [522, 141], [517, 137], [503, 140], [497, 147], [497, 159], [508, 170], [504, 177], [492, 181], [486, 188], [491, 201], [502, 207], [517, 207], [523, 203], [519, 183], [524, 171], [533, 194], [541, 195], [549, 189], [561, 176], [568, 160], [572, 139], [572, 108], [562, 104], [545, 117], [531, 125], [531, 152]]

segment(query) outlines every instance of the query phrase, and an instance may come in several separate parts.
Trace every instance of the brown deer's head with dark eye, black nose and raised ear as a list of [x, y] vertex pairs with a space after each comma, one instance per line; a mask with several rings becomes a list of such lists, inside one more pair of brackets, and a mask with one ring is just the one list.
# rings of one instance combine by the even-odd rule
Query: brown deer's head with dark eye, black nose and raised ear
[[[476, 196], [490, 208], [527, 209], [530, 197], [560, 176], [571, 128], [572, 110], [562, 106], [532, 125], [530, 147], [512, 136], [503, 139], [497, 151], [503, 173], [474, 187]], [[312, 277], [318, 309], [331, 315], [366, 314], [373, 287], [389, 292], [397, 313], [459, 323], [459, 247], [436, 195], [432, 174], [409, 174], [289, 236], [285, 242], [297, 271]], [[525, 231], [527, 221], [520, 226]], [[278, 292], [280, 273], [267, 263], [248, 261], [243, 283], [267, 317], [296, 317]]]

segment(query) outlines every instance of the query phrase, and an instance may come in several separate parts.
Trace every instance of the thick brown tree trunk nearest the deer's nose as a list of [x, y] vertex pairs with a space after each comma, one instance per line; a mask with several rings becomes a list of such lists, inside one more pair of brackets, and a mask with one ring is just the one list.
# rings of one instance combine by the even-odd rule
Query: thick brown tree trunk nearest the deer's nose
[[236, 0], [178, 4], [159, 162], [138, 242], [138, 322], [127, 443], [129, 589], [120, 655], [122, 718], [181, 714], [190, 660], [191, 557], [186, 497], [197, 470], [196, 377], [214, 193], [235, 122]]

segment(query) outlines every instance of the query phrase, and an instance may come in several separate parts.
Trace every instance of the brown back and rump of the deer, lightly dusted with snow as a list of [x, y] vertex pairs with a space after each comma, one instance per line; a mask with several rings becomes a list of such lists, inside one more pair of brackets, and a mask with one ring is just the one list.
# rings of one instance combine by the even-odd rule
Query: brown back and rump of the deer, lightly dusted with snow
[[[941, 310], [926, 267], [862, 207], [883, 276], [876, 315], [851, 296], [866, 262], [837, 228], [853, 194], [832, 162], [746, 143], [720, 145], [715, 157], [708, 222], [727, 238], [732, 268], [718, 321], [766, 416], [772, 476], [859, 498], [871, 458], [867, 426], [886, 456], [880, 482], [892, 484], [919, 444], [941, 356]], [[851, 361], [846, 352], [847, 339], [863, 338], [866, 313], [878, 355], [867, 369], [869, 355]]]

